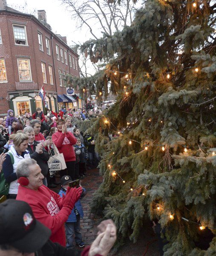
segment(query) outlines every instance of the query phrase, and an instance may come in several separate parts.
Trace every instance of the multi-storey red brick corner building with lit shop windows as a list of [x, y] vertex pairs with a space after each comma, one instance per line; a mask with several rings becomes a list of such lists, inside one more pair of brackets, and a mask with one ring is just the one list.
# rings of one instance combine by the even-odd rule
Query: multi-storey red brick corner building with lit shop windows
[[9, 108], [16, 115], [44, 109], [38, 96], [42, 85], [49, 109], [81, 107], [77, 88], [66, 88], [63, 80], [65, 74], [79, 76], [78, 70], [77, 53], [66, 37], [52, 32], [44, 10], [36, 18], [0, 0], [0, 115]]

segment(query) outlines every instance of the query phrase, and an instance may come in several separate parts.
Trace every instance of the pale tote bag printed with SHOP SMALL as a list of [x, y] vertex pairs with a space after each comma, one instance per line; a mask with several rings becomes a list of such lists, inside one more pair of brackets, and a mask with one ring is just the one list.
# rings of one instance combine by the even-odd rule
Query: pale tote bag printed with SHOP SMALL
[[55, 144], [53, 145], [54, 154], [52, 154], [49, 146], [48, 151], [50, 154], [49, 160], [48, 160], [48, 166], [49, 166], [49, 173], [50, 175], [54, 175], [56, 172], [60, 172], [61, 170], [64, 170], [67, 168], [63, 153], [59, 153], [58, 148]]

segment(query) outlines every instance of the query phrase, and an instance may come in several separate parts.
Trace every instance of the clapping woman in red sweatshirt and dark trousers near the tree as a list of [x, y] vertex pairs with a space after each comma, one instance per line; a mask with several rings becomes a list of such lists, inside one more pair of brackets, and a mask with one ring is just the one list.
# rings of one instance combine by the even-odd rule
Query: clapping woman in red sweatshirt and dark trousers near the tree
[[[63, 153], [67, 169], [60, 171], [60, 176], [69, 175], [72, 180], [75, 180], [75, 163], [76, 156], [73, 145], [77, 139], [69, 131], [63, 119], [58, 119], [56, 122], [58, 131], [52, 134], [52, 142], [57, 146], [60, 153]], [[36, 137], [36, 136], [35, 136]]]

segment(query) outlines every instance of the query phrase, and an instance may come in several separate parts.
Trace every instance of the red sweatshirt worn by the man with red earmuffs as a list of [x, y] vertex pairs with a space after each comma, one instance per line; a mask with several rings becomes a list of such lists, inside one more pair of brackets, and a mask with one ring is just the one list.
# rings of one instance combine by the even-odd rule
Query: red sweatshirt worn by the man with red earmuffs
[[35, 218], [52, 231], [51, 241], [66, 246], [64, 223], [71, 211], [67, 207], [62, 207], [60, 195], [44, 185], [37, 191], [20, 185], [16, 199], [28, 203]]

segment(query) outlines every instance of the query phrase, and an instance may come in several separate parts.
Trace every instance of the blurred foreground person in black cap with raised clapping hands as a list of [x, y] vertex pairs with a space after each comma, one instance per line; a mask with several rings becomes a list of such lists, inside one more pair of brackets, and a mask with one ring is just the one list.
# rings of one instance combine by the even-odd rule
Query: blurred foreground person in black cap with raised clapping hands
[[116, 239], [111, 220], [98, 226], [99, 235], [82, 253], [49, 240], [51, 231], [35, 219], [26, 202], [0, 204], [0, 256], [107, 256]]

